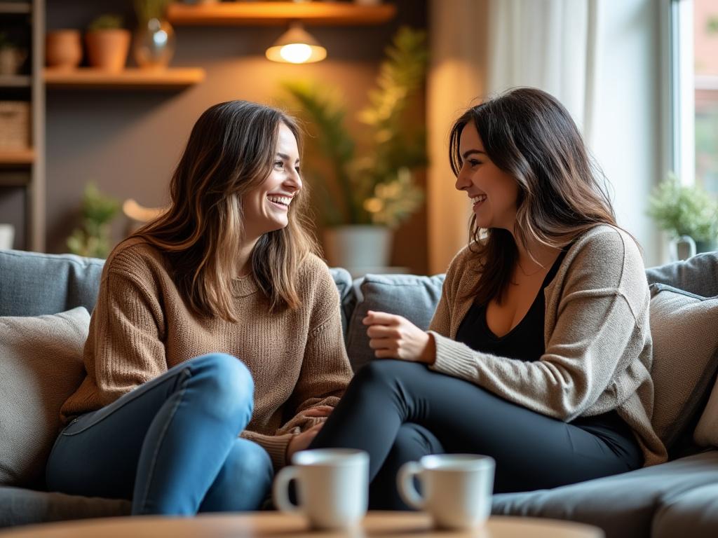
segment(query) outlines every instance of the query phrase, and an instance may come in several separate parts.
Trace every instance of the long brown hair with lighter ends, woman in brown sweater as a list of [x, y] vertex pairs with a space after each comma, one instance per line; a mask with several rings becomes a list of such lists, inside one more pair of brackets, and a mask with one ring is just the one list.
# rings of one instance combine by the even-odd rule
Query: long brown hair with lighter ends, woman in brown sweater
[[[241, 269], [242, 199], [271, 173], [282, 123], [294, 133], [301, 154], [299, 126], [280, 110], [240, 100], [205, 110], [172, 174], [169, 209], [132, 236], [167, 256], [174, 283], [198, 314], [236, 321], [233, 280]], [[305, 185], [292, 200], [289, 225], [262, 235], [251, 253], [251, 278], [271, 311], [301, 304], [297, 273], [307, 255], [317, 252], [306, 210]]]

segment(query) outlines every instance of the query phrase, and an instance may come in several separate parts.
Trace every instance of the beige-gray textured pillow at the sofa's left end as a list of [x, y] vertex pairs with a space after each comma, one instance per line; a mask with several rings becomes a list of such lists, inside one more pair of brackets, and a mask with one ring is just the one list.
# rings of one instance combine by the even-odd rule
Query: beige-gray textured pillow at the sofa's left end
[[90, 314], [0, 317], [0, 484], [42, 481], [60, 406], [83, 380]]

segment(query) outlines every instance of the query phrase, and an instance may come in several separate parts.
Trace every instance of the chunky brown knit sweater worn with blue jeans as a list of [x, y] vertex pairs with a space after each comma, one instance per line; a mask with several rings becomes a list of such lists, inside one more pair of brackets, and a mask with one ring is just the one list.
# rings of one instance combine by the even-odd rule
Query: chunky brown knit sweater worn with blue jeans
[[284, 466], [292, 436], [322, 420], [302, 413], [336, 405], [352, 375], [327, 266], [309, 256], [297, 283], [302, 306], [294, 311], [269, 314], [246, 277], [234, 281], [237, 323], [197, 316], [159, 250], [139, 239], [122, 242], [103, 269], [85, 343], [87, 376], [62, 406], [62, 419], [108, 405], [198, 355], [228, 353], [254, 379], [254, 412], [241, 436], [262, 445], [276, 468]]

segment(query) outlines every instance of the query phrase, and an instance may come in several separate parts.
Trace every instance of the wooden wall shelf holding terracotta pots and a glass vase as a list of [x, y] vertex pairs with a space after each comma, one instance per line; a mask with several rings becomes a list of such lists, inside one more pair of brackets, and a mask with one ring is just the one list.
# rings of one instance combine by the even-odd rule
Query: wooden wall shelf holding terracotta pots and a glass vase
[[197, 67], [170, 67], [157, 70], [129, 68], [108, 72], [90, 67], [73, 70], [48, 67], [44, 77], [47, 88], [175, 90], [202, 82], [205, 80], [205, 70]]

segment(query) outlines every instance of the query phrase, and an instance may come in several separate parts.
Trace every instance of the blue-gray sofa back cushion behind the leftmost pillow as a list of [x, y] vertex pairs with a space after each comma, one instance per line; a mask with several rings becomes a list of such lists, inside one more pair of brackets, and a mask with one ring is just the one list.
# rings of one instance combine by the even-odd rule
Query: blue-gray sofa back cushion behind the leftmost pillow
[[95, 308], [104, 260], [0, 250], [0, 316]]

